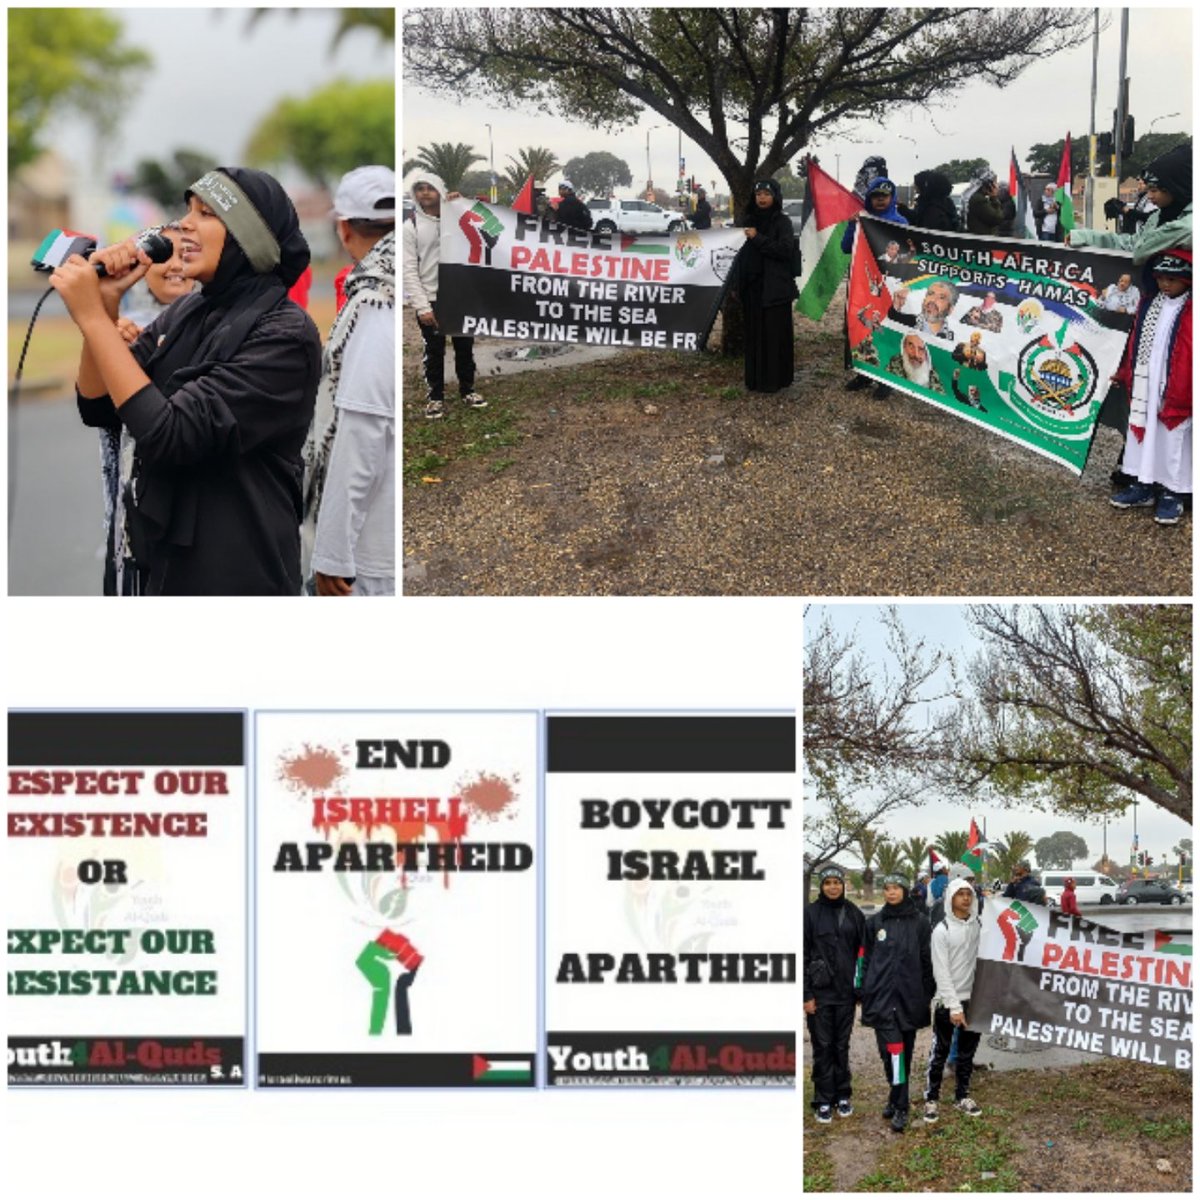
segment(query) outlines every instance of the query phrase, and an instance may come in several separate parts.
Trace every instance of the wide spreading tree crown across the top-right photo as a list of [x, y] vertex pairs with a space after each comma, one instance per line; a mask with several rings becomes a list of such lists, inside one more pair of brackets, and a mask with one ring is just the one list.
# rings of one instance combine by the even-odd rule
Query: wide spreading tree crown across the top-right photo
[[414, 8], [406, 78], [596, 128], [649, 109], [678, 126], [740, 210], [815, 138], [958, 84], [1012, 83], [1091, 34], [1081, 8]]

